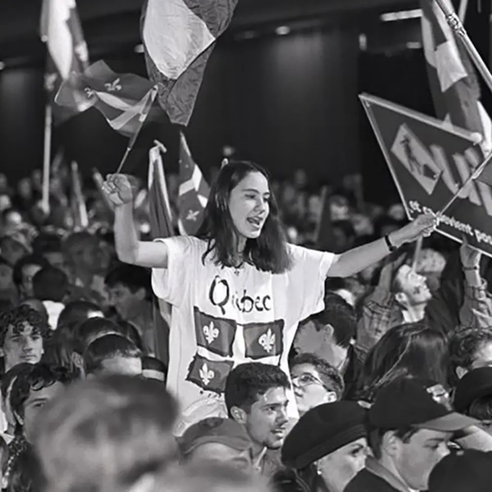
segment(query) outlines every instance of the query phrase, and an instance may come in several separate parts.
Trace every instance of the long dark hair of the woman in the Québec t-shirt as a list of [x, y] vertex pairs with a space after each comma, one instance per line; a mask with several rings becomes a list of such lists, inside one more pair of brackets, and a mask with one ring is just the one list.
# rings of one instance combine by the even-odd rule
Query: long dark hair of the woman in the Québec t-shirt
[[[270, 180], [258, 164], [248, 161], [231, 161], [222, 167], [212, 186], [203, 223], [197, 237], [208, 242], [202, 261], [213, 254], [216, 265], [234, 267], [236, 228], [229, 212], [231, 191], [249, 174], [258, 172]], [[292, 265], [287, 241], [279, 218], [277, 201], [273, 194], [269, 200], [270, 213], [258, 239], [246, 240], [245, 261], [263, 272], [283, 273]]]

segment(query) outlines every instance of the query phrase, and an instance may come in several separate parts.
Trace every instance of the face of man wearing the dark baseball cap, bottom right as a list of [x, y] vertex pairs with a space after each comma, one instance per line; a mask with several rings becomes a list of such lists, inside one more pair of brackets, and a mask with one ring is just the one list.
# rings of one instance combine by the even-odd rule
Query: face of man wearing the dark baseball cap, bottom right
[[393, 461], [410, 489], [428, 489], [432, 468], [449, 454], [451, 436], [451, 432], [422, 429], [413, 434], [408, 442], [396, 438]]

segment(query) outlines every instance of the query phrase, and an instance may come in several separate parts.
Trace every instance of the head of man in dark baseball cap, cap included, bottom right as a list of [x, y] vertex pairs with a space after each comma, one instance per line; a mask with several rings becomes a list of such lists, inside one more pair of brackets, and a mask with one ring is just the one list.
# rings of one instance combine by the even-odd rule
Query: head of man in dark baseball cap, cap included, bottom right
[[453, 433], [476, 424], [452, 409], [441, 384], [400, 377], [376, 394], [369, 409], [369, 444], [409, 489], [427, 490], [433, 466], [449, 454]]

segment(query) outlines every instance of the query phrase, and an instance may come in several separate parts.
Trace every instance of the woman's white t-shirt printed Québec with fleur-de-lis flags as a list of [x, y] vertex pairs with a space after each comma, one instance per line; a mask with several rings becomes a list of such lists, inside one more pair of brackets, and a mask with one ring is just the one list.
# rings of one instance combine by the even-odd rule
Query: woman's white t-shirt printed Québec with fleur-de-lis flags
[[[223, 391], [238, 364], [261, 362], [289, 375], [287, 357], [298, 323], [324, 307], [324, 280], [334, 254], [288, 245], [283, 274], [215, 265], [207, 243], [192, 236], [157, 240], [168, 267], [153, 269], [155, 295], [172, 305], [168, 390], [181, 405], [177, 433], [210, 415], [227, 416]], [[289, 415], [298, 416], [289, 394]]]

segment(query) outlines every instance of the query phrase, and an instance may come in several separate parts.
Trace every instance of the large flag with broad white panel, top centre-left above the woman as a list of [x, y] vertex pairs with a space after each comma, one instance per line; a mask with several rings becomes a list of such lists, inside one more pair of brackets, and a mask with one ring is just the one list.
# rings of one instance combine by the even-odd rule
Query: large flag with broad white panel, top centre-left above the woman
[[189, 123], [215, 40], [238, 0], [148, 0], [142, 39], [147, 71], [172, 123]]

